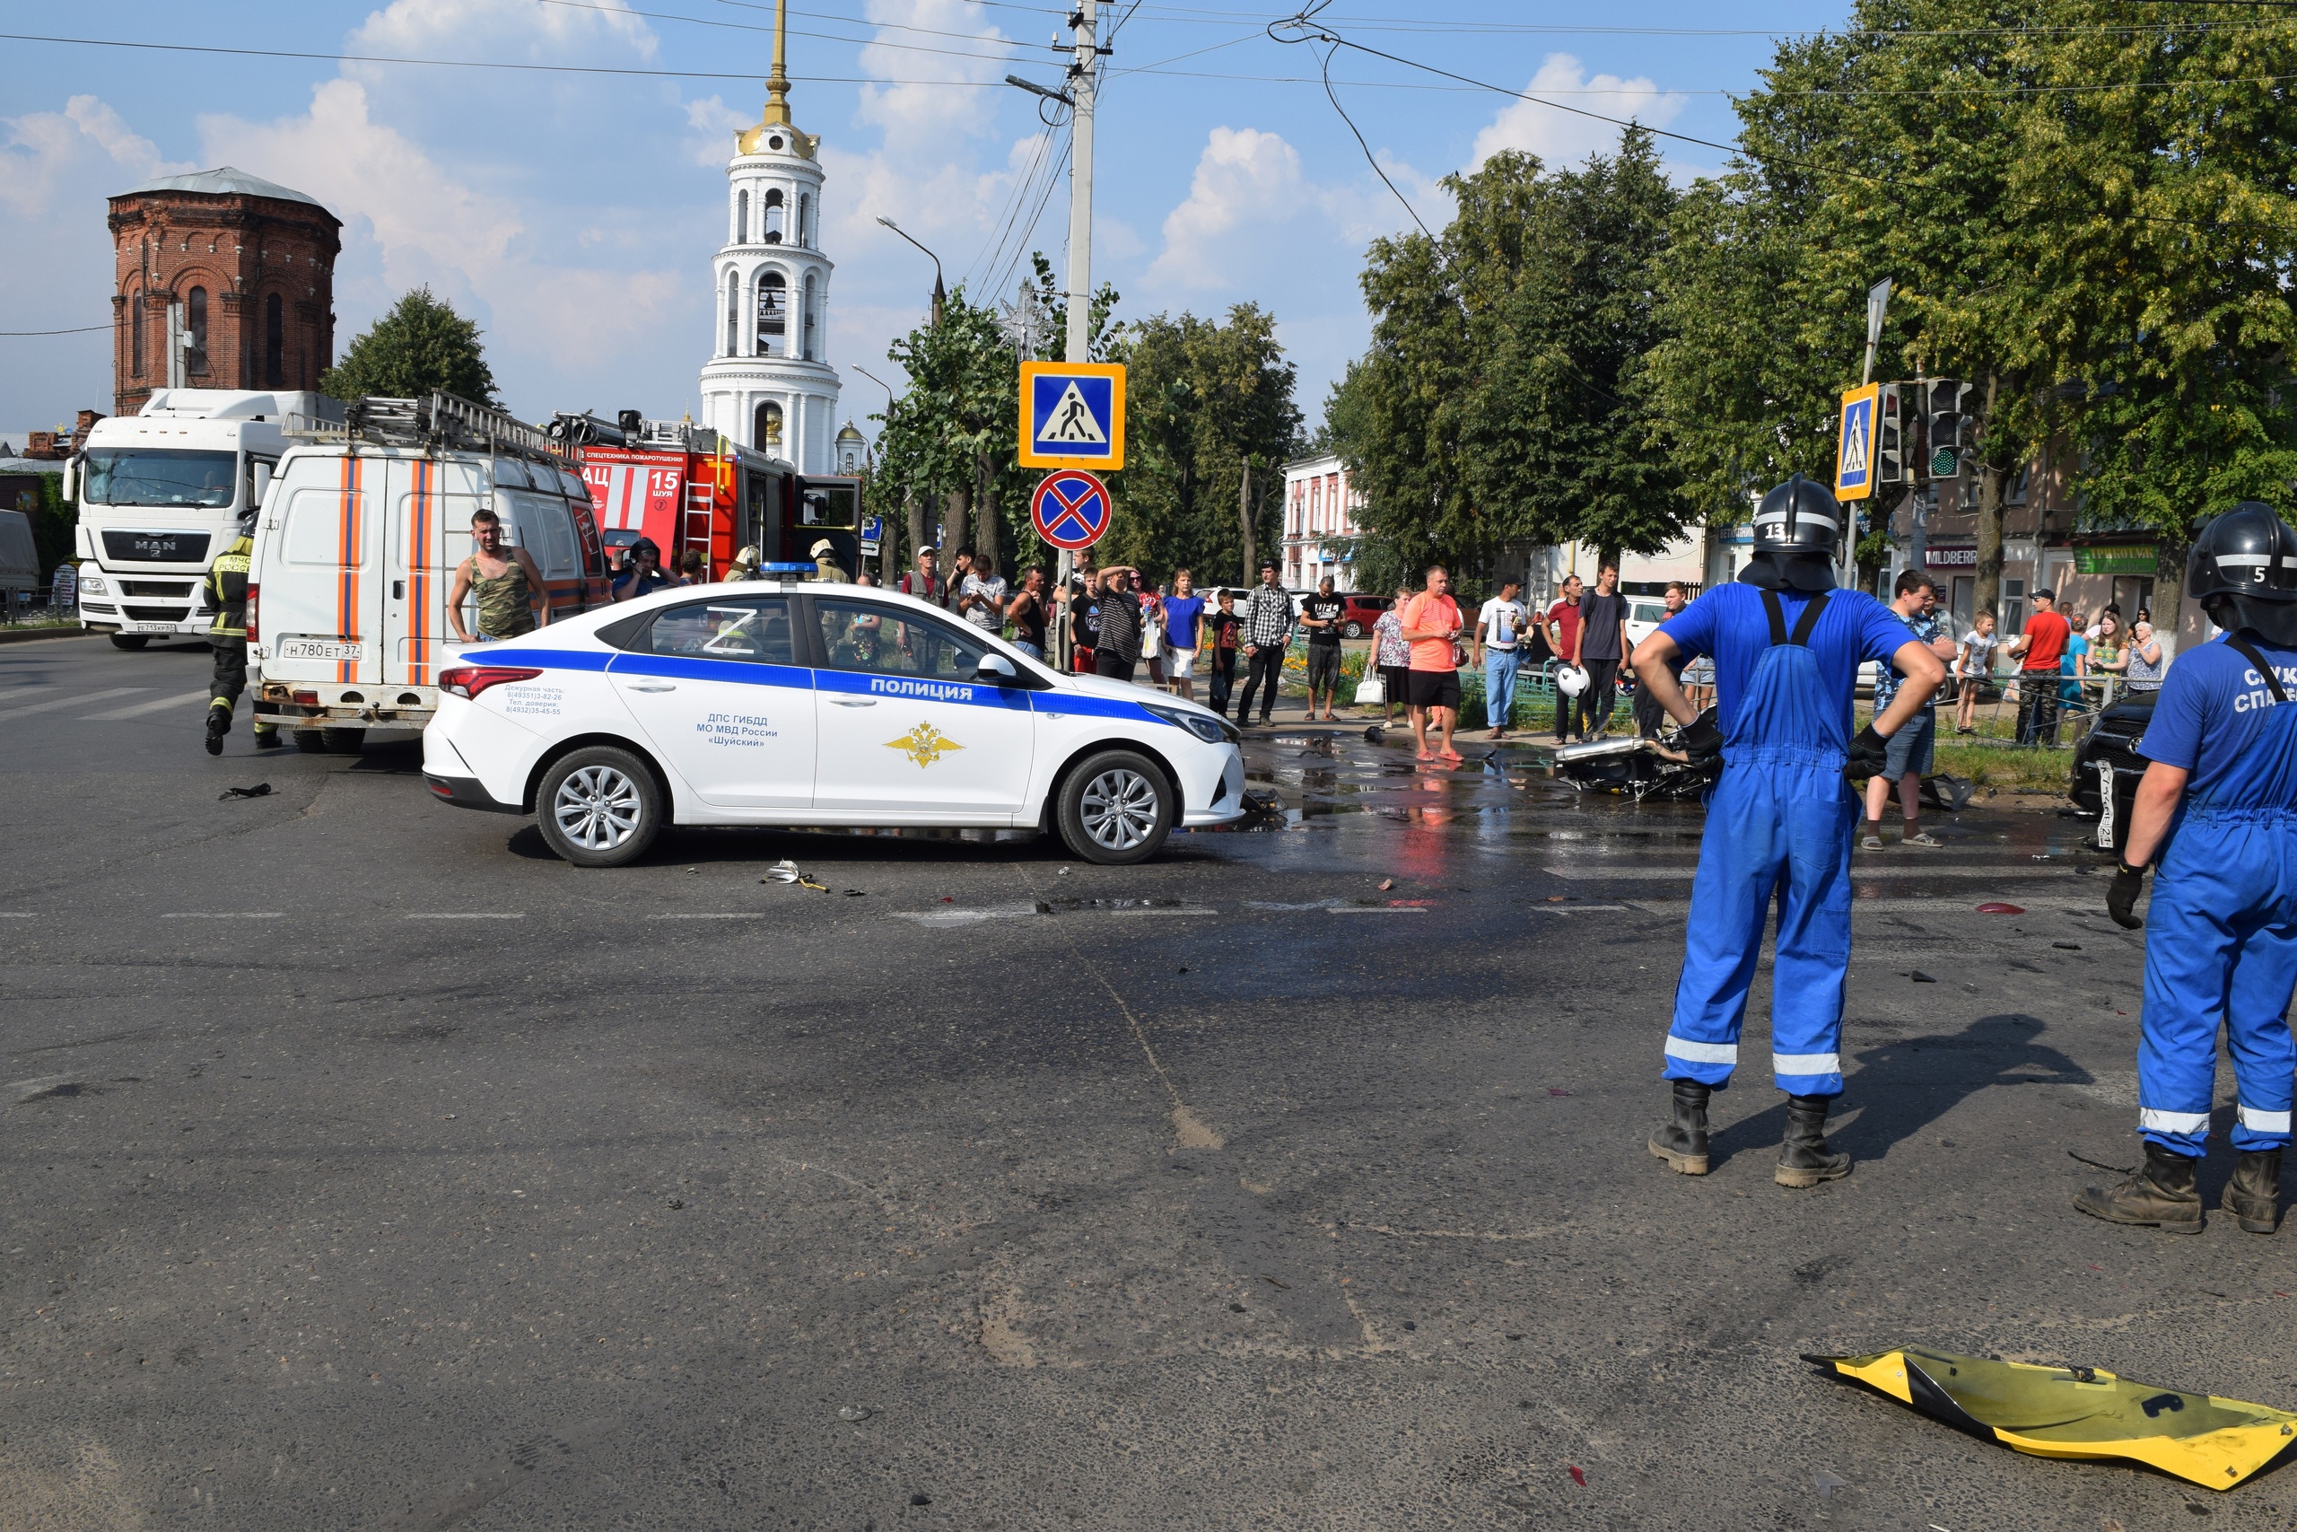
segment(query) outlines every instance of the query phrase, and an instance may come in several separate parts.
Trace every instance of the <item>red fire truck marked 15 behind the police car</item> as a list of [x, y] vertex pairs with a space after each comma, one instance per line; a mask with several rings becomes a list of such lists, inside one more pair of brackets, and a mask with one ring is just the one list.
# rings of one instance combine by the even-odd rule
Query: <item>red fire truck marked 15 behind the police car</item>
[[726, 441], [689, 420], [616, 420], [558, 413], [549, 434], [581, 459], [600, 535], [620, 560], [650, 537], [662, 567], [698, 551], [703, 579], [724, 579], [733, 556], [758, 549], [772, 574], [813, 574], [813, 547], [829, 542], [848, 577], [861, 570], [861, 480], [799, 475], [788, 462]]

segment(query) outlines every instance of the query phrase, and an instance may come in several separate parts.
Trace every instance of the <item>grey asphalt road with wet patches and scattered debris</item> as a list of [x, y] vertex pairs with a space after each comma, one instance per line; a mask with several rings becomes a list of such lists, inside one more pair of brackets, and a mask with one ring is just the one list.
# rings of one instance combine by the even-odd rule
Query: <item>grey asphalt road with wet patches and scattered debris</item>
[[1861, 859], [1858, 1169], [1787, 1192], [1760, 1063], [1645, 1151], [1697, 808], [1279, 728], [1286, 825], [1144, 868], [586, 873], [411, 744], [207, 758], [204, 675], [0, 648], [0, 1527], [2297, 1521], [1796, 1360], [2297, 1406], [2290, 1231], [2070, 1206], [2143, 951], [2072, 820]]

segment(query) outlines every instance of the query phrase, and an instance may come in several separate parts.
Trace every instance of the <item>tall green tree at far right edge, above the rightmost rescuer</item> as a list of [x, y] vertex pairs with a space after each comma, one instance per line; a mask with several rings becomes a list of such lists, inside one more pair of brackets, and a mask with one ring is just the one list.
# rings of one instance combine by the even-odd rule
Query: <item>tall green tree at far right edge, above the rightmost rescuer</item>
[[[2155, 531], [2175, 613], [2198, 526], [2297, 482], [2297, 18], [2173, 25], [2148, 5], [2040, 7], [2003, 232], [2042, 409], [2083, 448], [2090, 524]], [[2047, 92], [2047, 94], [2044, 94]]]

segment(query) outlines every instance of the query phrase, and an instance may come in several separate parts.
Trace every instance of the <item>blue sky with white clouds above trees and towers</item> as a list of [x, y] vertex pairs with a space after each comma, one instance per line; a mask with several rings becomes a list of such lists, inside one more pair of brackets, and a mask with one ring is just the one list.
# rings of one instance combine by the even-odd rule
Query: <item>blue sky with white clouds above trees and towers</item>
[[[1031, 250], [1066, 271], [1066, 131], [1004, 85], [1061, 78], [1066, 7], [1015, 0], [795, 0], [797, 124], [822, 138], [829, 361], [845, 413], [896, 388], [887, 342], [923, 317], [933, 248], [951, 285], [1011, 296]], [[1098, 117], [1093, 276], [1121, 315], [1277, 315], [1314, 423], [1362, 351], [1369, 239], [1408, 227], [1367, 163], [1438, 225], [1440, 177], [1498, 149], [1576, 163], [1617, 129], [1406, 62], [1266, 34], [1277, 9], [1103, 5], [1121, 16]], [[1718, 25], [1718, 16], [1727, 25]], [[1482, 85], [1730, 140], [1730, 92], [1776, 39], [1842, 9], [1686, 0], [1590, 11], [1550, 0], [1335, 0], [1351, 41]], [[430, 285], [487, 333], [505, 402], [694, 411], [710, 354], [710, 257], [726, 230], [733, 133], [758, 119], [772, 0], [393, 0], [379, 9], [117, 0], [46, 9], [23, 30], [319, 57], [14, 41], [0, 78], [0, 331], [106, 326], [106, 195], [154, 175], [237, 165], [345, 220], [338, 345]], [[358, 62], [365, 60], [427, 60]], [[466, 69], [462, 62], [528, 69]], [[620, 71], [620, 73], [611, 73]], [[1351, 133], [1348, 119], [1362, 133]], [[1723, 152], [1661, 140], [1679, 179]], [[0, 335], [0, 436], [110, 409], [110, 333]]]

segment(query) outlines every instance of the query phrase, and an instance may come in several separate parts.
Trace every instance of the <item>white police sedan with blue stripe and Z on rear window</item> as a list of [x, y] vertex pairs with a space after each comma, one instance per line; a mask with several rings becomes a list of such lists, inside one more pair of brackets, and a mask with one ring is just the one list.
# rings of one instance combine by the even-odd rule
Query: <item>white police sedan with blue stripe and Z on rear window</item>
[[666, 825], [1059, 829], [1077, 857], [1153, 857], [1174, 825], [1245, 808], [1217, 712], [1061, 675], [873, 586], [657, 590], [439, 673], [423, 781], [533, 813], [577, 866]]

